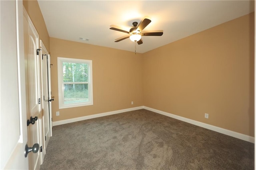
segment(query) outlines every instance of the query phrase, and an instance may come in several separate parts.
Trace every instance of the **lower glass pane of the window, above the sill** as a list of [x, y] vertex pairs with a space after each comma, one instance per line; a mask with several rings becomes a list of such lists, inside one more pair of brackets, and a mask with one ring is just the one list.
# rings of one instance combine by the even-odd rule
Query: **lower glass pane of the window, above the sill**
[[64, 104], [88, 101], [88, 84], [64, 84]]

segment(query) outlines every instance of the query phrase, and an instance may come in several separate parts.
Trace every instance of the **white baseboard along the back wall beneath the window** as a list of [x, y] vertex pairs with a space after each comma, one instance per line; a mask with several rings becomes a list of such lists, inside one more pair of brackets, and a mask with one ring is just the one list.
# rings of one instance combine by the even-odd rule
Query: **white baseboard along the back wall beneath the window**
[[143, 109], [143, 106], [132, 107], [132, 108], [122, 109], [122, 110], [118, 110], [118, 111], [110, 111], [110, 112], [106, 112], [106, 113], [99, 113], [99, 114], [95, 114], [95, 115], [88, 115], [88, 116], [83, 116], [83, 117], [76, 117], [76, 118], [72, 118], [72, 119], [66, 119], [63, 121], [55, 121], [55, 122], [52, 122], [52, 126], [63, 125], [66, 123], [73, 123], [73, 122], [78, 122], [78, 121], [84, 121], [87, 119], [93, 119], [93, 118], [97, 118], [97, 117], [114, 115], [114, 114], [124, 113], [124, 112], [128, 112], [128, 111], [135, 111], [135, 110], [139, 110], [139, 109]]

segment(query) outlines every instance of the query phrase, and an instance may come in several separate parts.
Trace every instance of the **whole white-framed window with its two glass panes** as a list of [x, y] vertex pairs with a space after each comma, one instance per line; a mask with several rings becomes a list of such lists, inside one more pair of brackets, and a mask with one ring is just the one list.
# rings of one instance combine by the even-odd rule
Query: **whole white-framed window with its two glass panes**
[[92, 60], [58, 57], [59, 109], [93, 105]]

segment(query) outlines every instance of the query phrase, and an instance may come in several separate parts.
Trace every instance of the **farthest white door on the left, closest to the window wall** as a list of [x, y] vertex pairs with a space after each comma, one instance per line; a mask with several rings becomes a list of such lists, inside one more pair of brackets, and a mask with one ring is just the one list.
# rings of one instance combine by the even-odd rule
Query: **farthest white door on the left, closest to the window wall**
[[[44, 46], [44, 43], [42, 40], [40, 40], [40, 60], [41, 60], [41, 86], [42, 86], [42, 114], [43, 114], [43, 136], [44, 136], [44, 142], [43, 142], [43, 156], [45, 154], [45, 150], [47, 147], [47, 144], [50, 140], [50, 131], [52, 127], [50, 127], [50, 110], [51, 106], [50, 103], [52, 102], [52, 97], [49, 95], [49, 83], [48, 79], [48, 56], [50, 57], [46, 47]], [[49, 58], [50, 59], [50, 58]]]

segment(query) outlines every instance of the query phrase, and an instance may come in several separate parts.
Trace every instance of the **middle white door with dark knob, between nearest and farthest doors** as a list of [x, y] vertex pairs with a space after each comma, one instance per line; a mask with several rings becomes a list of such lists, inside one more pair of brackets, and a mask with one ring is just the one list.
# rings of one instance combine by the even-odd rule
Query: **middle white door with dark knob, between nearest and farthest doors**
[[[25, 75], [26, 75], [26, 100], [27, 119], [33, 121], [28, 125], [28, 145], [39, 144], [42, 146], [42, 108], [40, 89], [40, 56], [39, 56], [39, 36], [24, 9], [24, 54], [25, 54]], [[39, 169], [41, 159], [40, 150], [33, 154], [28, 154], [29, 169]], [[42, 150], [41, 150], [42, 151]]]

